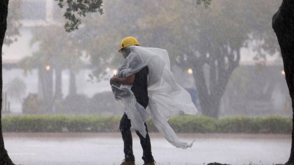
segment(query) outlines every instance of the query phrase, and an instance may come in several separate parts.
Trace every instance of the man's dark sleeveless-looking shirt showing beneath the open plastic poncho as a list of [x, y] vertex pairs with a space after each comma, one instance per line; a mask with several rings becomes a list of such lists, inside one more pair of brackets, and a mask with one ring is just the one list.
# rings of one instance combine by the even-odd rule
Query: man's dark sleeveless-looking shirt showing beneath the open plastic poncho
[[131, 90], [133, 91], [136, 100], [145, 109], [148, 106], [148, 91], [147, 91], [148, 67], [143, 67], [139, 72], [135, 73], [135, 80]]

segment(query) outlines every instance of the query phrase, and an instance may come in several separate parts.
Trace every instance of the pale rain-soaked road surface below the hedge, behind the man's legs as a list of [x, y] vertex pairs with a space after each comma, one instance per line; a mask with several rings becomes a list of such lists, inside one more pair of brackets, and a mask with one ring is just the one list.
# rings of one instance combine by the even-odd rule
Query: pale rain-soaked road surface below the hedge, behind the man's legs
[[[179, 149], [158, 133], [151, 133], [153, 157], [158, 165], [232, 165], [285, 163], [291, 135], [178, 134], [192, 148]], [[4, 133], [5, 147], [16, 164], [24, 165], [119, 165], [123, 141], [119, 133]], [[133, 133], [136, 164], [143, 164], [142, 148]]]

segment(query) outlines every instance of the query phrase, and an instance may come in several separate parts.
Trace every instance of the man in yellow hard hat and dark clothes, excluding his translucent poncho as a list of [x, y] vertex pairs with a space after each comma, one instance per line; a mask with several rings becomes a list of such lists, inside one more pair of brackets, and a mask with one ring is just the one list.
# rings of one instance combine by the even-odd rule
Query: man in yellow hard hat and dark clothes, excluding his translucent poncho
[[[124, 49], [124, 47], [128, 47], [131, 45], [139, 46], [136, 38], [127, 37], [121, 41], [121, 49], [118, 52], [122, 52], [123, 58], [126, 59], [128, 57], [130, 51]], [[115, 82], [132, 85], [131, 91], [134, 93], [136, 97], [136, 101], [143, 106], [145, 109], [148, 106], [148, 91], [147, 91], [147, 77], [148, 77], [148, 67], [145, 66], [139, 72], [131, 74], [126, 78], [119, 78], [115, 75], [110, 79], [110, 83], [114, 84]], [[136, 134], [140, 138], [141, 146], [143, 149], [143, 157], [144, 165], [155, 165], [154, 159], [151, 153], [151, 143], [150, 137], [148, 135], [147, 125], [144, 123], [146, 127], [146, 138], [144, 138], [139, 131], [136, 130]], [[121, 118], [119, 130], [121, 131], [124, 143], [124, 153], [125, 159], [121, 165], [135, 165], [135, 157], [133, 155], [133, 140], [131, 134], [131, 120], [128, 119], [126, 112], [123, 114]]]

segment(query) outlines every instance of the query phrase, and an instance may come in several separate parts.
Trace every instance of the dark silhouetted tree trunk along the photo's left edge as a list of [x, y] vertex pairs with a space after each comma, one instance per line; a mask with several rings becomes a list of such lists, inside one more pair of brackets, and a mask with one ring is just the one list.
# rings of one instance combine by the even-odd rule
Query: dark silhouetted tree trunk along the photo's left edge
[[7, 14], [8, 14], [8, 2], [9, 0], [1, 0], [0, 1], [0, 164], [1, 165], [14, 165], [14, 163], [11, 161], [11, 159], [8, 156], [8, 153], [4, 147], [4, 140], [3, 140], [3, 134], [2, 134], [2, 122], [1, 122], [1, 109], [2, 109], [2, 45], [3, 40], [7, 28]]

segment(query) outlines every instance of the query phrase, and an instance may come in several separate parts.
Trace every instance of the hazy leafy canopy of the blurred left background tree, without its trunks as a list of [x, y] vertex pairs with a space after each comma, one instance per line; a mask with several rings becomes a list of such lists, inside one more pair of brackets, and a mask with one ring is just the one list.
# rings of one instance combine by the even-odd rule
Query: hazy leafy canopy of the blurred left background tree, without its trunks
[[32, 56], [25, 57], [20, 65], [25, 71], [42, 65], [44, 68], [78, 69], [82, 50], [76, 33], [66, 33], [59, 25], [41, 26], [33, 31], [30, 45], [38, 44], [39, 49]]

